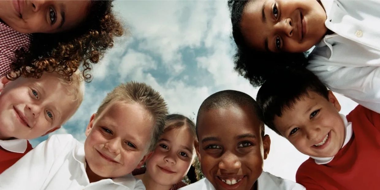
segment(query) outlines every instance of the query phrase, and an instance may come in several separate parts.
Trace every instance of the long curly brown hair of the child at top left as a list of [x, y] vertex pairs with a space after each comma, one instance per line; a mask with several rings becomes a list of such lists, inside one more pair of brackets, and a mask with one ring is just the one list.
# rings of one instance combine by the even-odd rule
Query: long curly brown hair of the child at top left
[[103, 58], [106, 49], [113, 46], [114, 36], [123, 35], [112, 7], [110, 0], [91, 0], [87, 17], [78, 27], [61, 33], [33, 33], [29, 49], [16, 52], [13, 71], [6, 77], [9, 80], [19, 76], [40, 78], [44, 71], [56, 71], [70, 81], [70, 76], [82, 64], [82, 76], [90, 82], [91, 63]]

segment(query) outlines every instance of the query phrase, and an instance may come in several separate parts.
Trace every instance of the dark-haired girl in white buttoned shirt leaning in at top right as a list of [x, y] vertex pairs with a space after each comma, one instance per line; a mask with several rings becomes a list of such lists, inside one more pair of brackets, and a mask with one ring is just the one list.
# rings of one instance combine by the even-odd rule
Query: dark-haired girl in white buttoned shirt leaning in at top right
[[380, 2], [229, 0], [228, 6], [235, 69], [251, 84], [306, 67], [332, 91], [380, 112]]

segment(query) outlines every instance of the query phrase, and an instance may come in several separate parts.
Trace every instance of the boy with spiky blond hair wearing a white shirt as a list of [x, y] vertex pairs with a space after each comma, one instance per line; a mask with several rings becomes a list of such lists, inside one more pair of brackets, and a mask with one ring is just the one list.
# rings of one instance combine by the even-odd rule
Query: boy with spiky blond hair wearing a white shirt
[[0, 175], [0, 188], [145, 190], [130, 173], [152, 153], [167, 113], [150, 86], [120, 84], [91, 116], [84, 145], [51, 136]]

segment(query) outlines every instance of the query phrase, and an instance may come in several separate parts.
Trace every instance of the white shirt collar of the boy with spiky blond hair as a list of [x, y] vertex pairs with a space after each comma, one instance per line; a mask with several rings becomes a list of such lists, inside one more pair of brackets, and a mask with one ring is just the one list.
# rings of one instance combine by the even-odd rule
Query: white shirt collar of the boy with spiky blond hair
[[[73, 150], [73, 157], [81, 165], [80, 167], [81, 167], [82, 171], [86, 174], [87, 182], [90, 184], [90, 180], [87, 177], [87, 173], [86, 173], [86, 165], [87, 164], [86, 164], [86, 157], [85, 157], [85, 153], [84, 153], [84, 146], [75, 147], [75, 149]], [[134, 189], [134, 187], [139, 182], [142, 183], [141, 180], [137, 180], [135, 177], [132, 176], [132, 174], [127, 174], [127, 175], [122, 176], [122, 177], [115, 177], [112, 179], [102, 179], [100, 181], [91, 183], [89, 186], [95, 185], [95, 184], [117, 184], [117, 185], [125, 186], [128, 189]]]

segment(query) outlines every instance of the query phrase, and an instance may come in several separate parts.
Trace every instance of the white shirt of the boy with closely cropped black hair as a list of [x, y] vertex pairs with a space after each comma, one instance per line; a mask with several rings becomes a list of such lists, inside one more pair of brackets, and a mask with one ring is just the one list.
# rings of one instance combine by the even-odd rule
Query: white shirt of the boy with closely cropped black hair
[[[215, 190], [215, 188], [209, 180], [203, 178], [179, 190]], [[257, 190], [306, 190], [306, 188], [291, 180], [282, 179], [263, 171], [257, 179]]]

